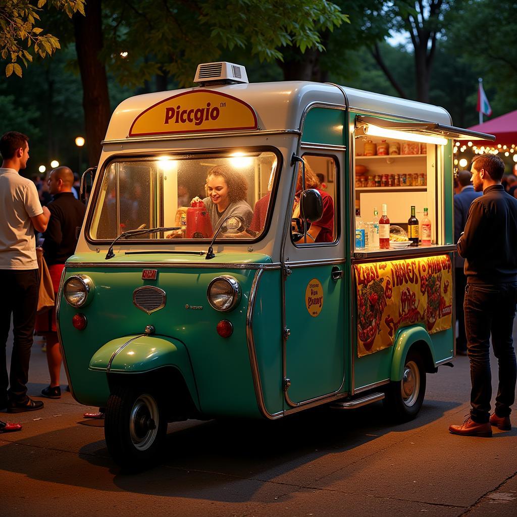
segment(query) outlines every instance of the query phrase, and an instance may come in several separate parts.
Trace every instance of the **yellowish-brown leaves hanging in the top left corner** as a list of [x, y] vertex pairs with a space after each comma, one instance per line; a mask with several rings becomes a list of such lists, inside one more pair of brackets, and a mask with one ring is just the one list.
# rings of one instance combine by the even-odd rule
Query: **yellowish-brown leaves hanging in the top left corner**
[[[79, 11], [84, 14], [85, 0], [5, 0], [0, 3], [0, 49], [3, 60], [10, 60], [5, 74], [22, 77], [21, 62], [25, 67], [32, 63], [33, 56], [41, 58], [52, 55], [60, 48], [59, 40], [52, 34], [42, 34], [40, 24], [42, 8], [54, 7], [66, 12], [69, 18]], [[23, 48], [26, 47], [26, 48]]]

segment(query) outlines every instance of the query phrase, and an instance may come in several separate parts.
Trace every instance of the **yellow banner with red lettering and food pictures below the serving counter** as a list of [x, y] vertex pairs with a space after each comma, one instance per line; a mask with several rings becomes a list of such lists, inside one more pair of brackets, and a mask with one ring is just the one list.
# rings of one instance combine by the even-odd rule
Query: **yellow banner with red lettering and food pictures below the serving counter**
[[357, 355], [391, 346], [401, 327], [450, 328], [451, 267], [448, 255], [355, 265]]

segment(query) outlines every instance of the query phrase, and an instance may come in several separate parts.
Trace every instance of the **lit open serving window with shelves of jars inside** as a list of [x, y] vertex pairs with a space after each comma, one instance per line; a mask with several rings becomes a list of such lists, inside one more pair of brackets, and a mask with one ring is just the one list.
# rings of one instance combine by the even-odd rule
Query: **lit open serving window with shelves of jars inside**
[[[414, 237], [408, 225], [412, 206], [418, 220], [418, 246], [444, 244], [443, 155], [447, 140], [379, 127], [369, 131], [372, 127], [359, 125], [354, 132], [355, 250], [379, 249], [374, 211], [381, 218], [383, 205], [390, 222], [390, 249], [412, 246], [408, 240]], [[428, 235], [426, 225], [422, 241], [425, 208], [431, 231]]]

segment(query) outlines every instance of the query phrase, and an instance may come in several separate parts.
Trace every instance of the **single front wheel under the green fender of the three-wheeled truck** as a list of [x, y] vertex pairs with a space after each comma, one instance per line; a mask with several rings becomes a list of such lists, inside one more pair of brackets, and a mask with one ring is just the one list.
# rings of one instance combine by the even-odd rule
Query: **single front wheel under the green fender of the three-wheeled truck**
[[138, 472], [158, 458], [167, 431], [163, 406], [156, 394], [117, 386], [106, 407], [104, 437], [113, 460]]

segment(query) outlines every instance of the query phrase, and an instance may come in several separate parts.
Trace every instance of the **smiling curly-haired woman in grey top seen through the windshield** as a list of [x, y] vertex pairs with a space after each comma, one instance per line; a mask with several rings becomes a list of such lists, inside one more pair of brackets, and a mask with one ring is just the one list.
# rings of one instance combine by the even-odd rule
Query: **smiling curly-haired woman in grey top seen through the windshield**
[[236, 237], [249, 227], [253, 210], [246, 202], [248, 183], [242, 174], [229, 166], [216, 165], [208, 171], [205, 188], [207, 197], [201, 200], [196, 196], [192, 202], [203, 201], [210, 215], [214, 234], [230, 216], [235, 216], [239, 224], [235, 229], [225, 232], [225, 235]]

